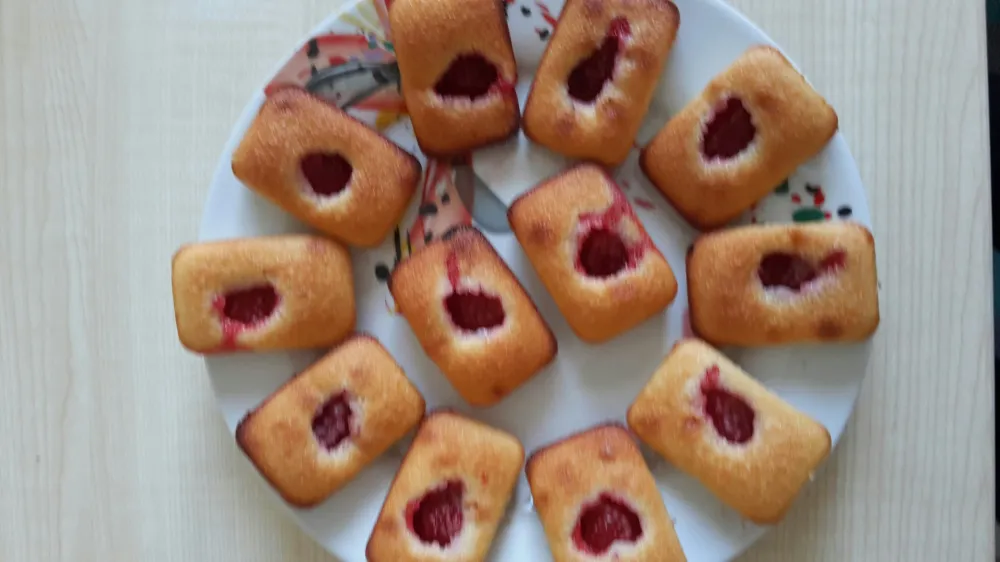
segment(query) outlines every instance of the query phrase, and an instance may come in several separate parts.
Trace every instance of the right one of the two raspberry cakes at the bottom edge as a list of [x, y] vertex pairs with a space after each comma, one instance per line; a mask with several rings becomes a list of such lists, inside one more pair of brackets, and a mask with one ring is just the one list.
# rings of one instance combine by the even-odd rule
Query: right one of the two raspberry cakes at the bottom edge
[[555, 562], [686, 560], [639, 447], [619, 425], [568, 437], [526, 469]]

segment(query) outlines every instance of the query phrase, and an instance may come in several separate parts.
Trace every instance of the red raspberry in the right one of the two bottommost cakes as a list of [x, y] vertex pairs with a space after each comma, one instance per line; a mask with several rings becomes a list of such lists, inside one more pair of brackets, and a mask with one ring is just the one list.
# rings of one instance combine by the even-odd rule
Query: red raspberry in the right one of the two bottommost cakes
[[625, 502], [601, 494], [584, 506], [573, 529], [576, 547], [589, 554], [601, 555], [615, 541], [636, 542], [642, 536], [639, 516]]

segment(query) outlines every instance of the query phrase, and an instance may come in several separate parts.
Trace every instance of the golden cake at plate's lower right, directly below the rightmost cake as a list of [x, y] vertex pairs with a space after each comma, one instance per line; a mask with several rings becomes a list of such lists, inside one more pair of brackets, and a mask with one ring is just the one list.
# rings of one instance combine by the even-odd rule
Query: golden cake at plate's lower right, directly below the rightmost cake
[[632, 431], [755, 523], [777, 523], [830, 434], [708, 344], [674, 346], [628, 410]]

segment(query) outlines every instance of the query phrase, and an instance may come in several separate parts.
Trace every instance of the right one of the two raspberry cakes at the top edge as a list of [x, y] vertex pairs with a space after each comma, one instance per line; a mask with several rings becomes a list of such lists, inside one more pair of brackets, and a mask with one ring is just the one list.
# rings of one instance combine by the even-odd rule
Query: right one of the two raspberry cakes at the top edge
[[524, 132], [571, 158], [617, 166], [677, 36], [670, 0], [569, 0], [524, 107]]

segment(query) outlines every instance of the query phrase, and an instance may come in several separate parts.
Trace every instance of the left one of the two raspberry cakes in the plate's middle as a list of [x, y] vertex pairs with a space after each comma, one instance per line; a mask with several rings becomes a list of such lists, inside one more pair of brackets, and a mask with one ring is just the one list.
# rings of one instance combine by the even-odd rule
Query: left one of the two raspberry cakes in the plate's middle
[[473, 228], [402, 261], [389, 290], [424, 351], [473, 406], [496, 404], [556, 355], [531, 297]]

